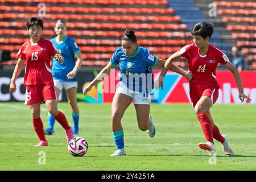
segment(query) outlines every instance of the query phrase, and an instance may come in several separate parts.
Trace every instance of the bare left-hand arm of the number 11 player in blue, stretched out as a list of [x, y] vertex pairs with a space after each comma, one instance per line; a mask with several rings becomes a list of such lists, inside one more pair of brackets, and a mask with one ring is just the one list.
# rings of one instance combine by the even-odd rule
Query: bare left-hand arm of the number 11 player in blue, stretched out
[[109, 75], [110, 73], [110, 69], [114, 68], [113, 65], [111, 63], [109, 63], [108, 65], [106, 65], [106, 67], [104, 67], [100, 73], [98, 73], [98, 75], [94, 78], [94, 80], [92, 82], [90, 82], [89, 85], [87, 85], [84, 90], [82, 91], [82, 93], [84, 93], [84, 95], [86, 95], [93, 87], [93, 85], [96, 85], [98, 82], [101, 82], [105, 79], [106, 76]]

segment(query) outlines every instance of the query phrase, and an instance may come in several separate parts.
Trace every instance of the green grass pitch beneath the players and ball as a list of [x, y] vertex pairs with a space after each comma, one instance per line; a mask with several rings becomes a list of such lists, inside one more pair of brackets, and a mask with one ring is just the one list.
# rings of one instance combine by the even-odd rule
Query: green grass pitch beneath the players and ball
[[[156, 135], [150, 138], [138, 129], [134, 105], [122, 119], [127, 156], [110, 156], [115, 150], [110, 128], [110, 104], [80, 107], [80, 137], [89, 144], [88, 153], [68, 153], [64, 130], [55, 123], [55, 135], [47, 136], [48, 147], [34, 147], [38, 137], [28, 106], [22, 102], [0, 103], [0, 170], [255, 170], [256, 105], [214, 105], [212, 117], [222, 134], [229, 137], [234, 156], [226, 156], [214, 140], [217, 156], [209, 156], [197, 143], [205, 142], [200, 124], [189, 104], [151, 105]], [[73, 126], [71, 108], [60, 102]], [[47, 124], [46, 106], [41, 118]], [[45, 160], [42, 159], [45, 154]], [[135, 167], [135, 168], [134, 168]]]

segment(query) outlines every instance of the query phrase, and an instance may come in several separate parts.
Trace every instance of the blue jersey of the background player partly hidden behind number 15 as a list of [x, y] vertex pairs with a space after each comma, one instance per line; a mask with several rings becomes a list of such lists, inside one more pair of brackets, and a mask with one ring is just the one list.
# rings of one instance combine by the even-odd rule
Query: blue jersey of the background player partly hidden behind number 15
[[59, 63], [55, 58], [53, 58], [52, 65], [52, 76], [53, 80], [59, 81], [77, 81], [77, 76], [72, 79], [68, 79], [67, 75], [75, 67], [75, 55], [80, 52], [75, 40], [65, 36], [63, 42], [57, 42], [57, 37], [51, 39], [51, 42], [55, 49], [64, 57], [64, 62]]

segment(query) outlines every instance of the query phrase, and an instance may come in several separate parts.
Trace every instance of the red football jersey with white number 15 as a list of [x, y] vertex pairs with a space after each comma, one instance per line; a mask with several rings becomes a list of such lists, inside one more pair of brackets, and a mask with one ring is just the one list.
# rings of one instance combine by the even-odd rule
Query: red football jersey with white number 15
[[41, 38], [38, 43], [30, 40], [20, 47], [17, 56], [26, 60], [24, 85], [52, 84], [51, 58], [56, 53], [49, 40]]

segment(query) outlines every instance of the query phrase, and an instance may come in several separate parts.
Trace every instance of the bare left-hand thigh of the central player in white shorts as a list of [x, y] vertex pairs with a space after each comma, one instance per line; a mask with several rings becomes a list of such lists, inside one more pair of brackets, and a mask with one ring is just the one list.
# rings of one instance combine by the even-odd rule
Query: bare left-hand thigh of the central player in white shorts
[[130, 96], [122, 93], [115, 93], [111, 106], [112, 117], [122, 117], [127, 107], [131, 104], [131, 101], [133, 101], [133, 98]]

